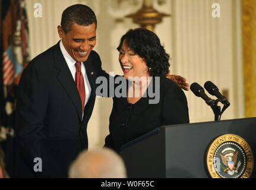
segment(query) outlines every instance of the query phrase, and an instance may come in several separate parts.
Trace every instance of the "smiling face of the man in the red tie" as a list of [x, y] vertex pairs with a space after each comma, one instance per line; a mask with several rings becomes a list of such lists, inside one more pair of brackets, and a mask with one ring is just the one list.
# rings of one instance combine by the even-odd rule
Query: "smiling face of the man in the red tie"
[[89, 26], [73, 23], [71, 30], [66, 34], [61, 26], [58, 26], [58, 33], [68, 54], [77, 62], [85, 62], [96, 45], [95, 23]]

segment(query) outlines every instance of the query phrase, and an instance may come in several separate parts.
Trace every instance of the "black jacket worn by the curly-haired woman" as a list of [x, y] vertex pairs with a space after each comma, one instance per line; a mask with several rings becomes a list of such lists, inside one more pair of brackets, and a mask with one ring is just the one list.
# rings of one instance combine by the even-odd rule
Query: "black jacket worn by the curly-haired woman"
[[[188, 103], [184, 92], [172, 80], [160, 78], [159, 102], [150, 104], [154, 97], [142, 97], [135, 104], [127, 102], [127, 97], [113, 97], [113, 108], [109, 118], [110, 134], [105, 146], [119, 153], [125, 143], [138, 138], [162, 125], [189, 123]], [[148, 89], [156, 89], [151, 81]], [[148, 93], [147, 91], [147, 94]]]

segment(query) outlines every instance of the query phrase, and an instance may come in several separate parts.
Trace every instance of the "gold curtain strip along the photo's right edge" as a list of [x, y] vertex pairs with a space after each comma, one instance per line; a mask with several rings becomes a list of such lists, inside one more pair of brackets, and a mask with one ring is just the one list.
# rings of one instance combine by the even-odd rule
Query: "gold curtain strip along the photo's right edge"
[[245, 116], [256, 116], [256, 1], [242, 0]]

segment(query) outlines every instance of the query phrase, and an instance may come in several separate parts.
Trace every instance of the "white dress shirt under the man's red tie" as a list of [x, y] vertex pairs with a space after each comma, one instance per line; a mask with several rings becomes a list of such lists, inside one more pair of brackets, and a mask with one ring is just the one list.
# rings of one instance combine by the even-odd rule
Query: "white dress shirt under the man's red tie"
[[[61, 42], [59, 42], [59, 46], [61, 47], [61, 52], [65, 58], [65, 61], [67, 62], [68, 64], [68, 68], [72, 74], [72, 77], [75, 81], [75, 63], [76, 61], [68, 54], [67, 50], [65, 49], [63, 43], [62, 43], [62, 40]], [[81, 63], [81, 71], [82, 71], [82, 74], [83, 74], [83, 77], [84, 77], [84, 87], [86, 89], [86, 102], [84, 103], [84, 107], [86, 106], [86, 103], [88, 102], [89, 98], [90, 98], [90, 94], [91, 94], [91, 86], [90, 86], [90, 83], [89, 83], [89, 80], [87, 78], [87, 74], [86, 74], [86, 67], [84, 66], [83, 62]], [[82, 115], [82, 118], [84, 116], [84, 113]]]

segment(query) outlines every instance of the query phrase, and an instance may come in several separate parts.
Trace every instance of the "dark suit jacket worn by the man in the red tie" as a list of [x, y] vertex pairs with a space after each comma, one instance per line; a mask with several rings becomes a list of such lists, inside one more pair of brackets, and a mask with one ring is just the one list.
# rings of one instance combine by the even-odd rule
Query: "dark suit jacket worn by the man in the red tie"
[[[24, 70], [15, 118], [17, 177], [65, 178], [69, 164], [88, 147], [87, 124], [96, 97], [96, 78], [109, 75], [94, 51], [84, 66], [91, 94], [83, 119], [81, 99], [59, 43], [34, 58]], [[34, 172], [39, 163], [35, 158], [42, 160], [42, 172]]]

